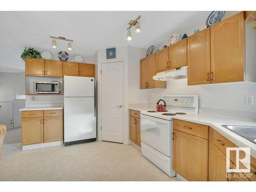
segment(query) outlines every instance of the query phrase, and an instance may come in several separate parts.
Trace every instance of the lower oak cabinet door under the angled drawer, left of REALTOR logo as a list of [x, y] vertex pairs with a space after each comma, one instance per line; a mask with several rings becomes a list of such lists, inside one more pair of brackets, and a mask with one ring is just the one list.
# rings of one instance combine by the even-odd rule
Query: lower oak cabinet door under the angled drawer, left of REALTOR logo
[[212, 153], [212, 170], [209, 172], [209, 177], [212, 178], [212, 181], [228, 181], [226, 177], [226, 156], [215, 145]]

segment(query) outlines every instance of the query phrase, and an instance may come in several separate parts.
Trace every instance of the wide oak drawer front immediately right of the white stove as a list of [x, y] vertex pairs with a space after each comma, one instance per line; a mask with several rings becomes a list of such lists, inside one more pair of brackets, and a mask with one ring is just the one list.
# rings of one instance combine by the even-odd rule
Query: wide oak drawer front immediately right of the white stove
[[175, 130], [208, 140], [208, 126], [206, 125], [191, 123], [178, 119], [173, 120], [173, 125]]

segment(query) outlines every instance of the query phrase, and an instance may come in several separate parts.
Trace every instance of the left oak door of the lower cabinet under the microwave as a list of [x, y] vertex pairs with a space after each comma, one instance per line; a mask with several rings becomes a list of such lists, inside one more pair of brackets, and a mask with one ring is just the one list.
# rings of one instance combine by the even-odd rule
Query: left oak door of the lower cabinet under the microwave
[[22, 118], [22, 144], [44, 142], [42, 117]]

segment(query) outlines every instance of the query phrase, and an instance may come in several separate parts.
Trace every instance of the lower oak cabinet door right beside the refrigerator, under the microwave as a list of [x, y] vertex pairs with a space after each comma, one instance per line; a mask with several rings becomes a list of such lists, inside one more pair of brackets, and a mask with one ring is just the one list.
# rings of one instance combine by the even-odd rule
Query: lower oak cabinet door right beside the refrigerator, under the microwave
[[62, 116], [44, 118], [44, 142], [61, 141], [63, 139]]

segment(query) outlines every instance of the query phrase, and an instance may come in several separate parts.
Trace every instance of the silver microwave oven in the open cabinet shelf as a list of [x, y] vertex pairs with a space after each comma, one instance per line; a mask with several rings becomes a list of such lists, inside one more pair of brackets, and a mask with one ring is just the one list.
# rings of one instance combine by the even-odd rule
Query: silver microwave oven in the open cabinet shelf
[[60, 82], [34, 81], [34, 93], [59, 94], [61, 93], [61, 91], [62, 91], [62, 84]]

